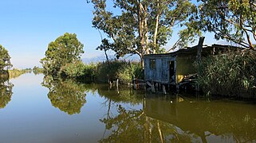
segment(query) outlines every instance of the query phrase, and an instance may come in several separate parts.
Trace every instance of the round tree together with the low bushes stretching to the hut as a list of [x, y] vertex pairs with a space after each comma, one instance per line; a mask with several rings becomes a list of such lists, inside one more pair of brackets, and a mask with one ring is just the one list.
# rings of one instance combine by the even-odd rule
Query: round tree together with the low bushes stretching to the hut
[[[119, 79], [120, 83], [128, 83], [133, 77], [143, 78], [140, 64], [125, 61], [108, 61], [108, 64], [83, 64], [81, 62], [83, 44], [77, 40], [76, 34], [65, 33], [49, 44], [45, 58], [41, 60], [46, 75], [76, 79], [80, 82]], [[34, 67], [33, 72], [40, 72]]]

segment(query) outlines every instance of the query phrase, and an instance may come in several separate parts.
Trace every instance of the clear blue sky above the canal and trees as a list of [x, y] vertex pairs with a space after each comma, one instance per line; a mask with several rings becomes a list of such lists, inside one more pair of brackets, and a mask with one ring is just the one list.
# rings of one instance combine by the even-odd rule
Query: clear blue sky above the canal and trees
[[[41, 67], [49, 42], [64, 33], [76, 33], [85, 45], [82, 58], [96, 58], [100, 33], [93, 28], [93, 6], [86, 0], [6, 0], [0, 4], [0, 44], [11, 56], [14, 68]], [[166, 48], [177, 39], [177, 31]], [[205, 44], [213, 44], [212, 34]], [[113, 54], [113, 53], [110, 53]]]

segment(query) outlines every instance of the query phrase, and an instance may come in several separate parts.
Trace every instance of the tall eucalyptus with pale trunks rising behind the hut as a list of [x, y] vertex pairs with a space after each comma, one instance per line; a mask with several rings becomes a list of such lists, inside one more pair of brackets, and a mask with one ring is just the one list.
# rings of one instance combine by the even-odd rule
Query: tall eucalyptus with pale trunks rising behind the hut
[[[185, 30], [187, 20], [196, 10], [189, 0], [114, 0], [112, 9], [106, 0], [91, 2], [94, 6], [93, 27], [108, 36], [98, 49], [112, 49], [117, 57], [137, 54], [143, 64], [144, 54], [164, 51], [163, 45], [171, 38], [175, 26], [183, 27], [179, 40], [199, 34]], [[179, 41], [178, 44], [186, 42]]]

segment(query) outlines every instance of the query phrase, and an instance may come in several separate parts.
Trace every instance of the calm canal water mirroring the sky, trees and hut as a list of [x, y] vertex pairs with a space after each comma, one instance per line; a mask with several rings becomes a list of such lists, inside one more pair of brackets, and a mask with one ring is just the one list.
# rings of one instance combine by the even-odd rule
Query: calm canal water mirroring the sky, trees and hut
[[0, 142], [256, 142], [256, 105], [26, 74], [0, 83]]

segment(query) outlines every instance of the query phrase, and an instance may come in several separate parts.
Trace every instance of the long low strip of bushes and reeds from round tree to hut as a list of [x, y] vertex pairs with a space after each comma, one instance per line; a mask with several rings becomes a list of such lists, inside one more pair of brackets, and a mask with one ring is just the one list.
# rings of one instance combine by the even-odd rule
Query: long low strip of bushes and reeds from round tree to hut
[[129, 83], [132, 78], [144, 78], [140, 63], [113, 60], [109, 63], [83, 64], [77, 62], [66, 64], [61, 68], [61, 76], [69, 79], [77, 79], [82, 82], [108, 83], [119, 79], [120, 83]]

